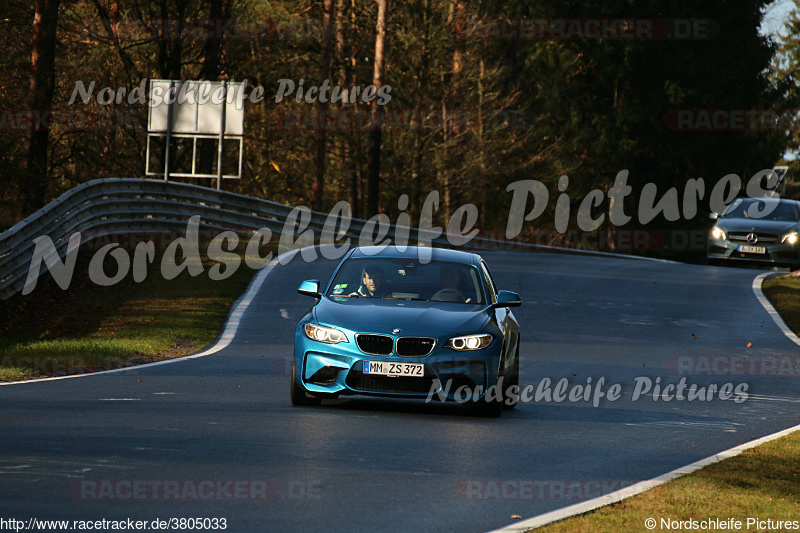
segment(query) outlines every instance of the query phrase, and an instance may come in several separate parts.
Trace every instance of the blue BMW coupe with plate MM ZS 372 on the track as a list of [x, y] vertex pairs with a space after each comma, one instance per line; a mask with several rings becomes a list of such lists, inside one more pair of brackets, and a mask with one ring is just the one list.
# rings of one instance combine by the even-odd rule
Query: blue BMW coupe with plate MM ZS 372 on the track
[[498, 416], [516, 405], [519, 296], [497, 290], [477, 254], [354, 248], [295, 331], [291, 400], [340, 394], [455, 400]]

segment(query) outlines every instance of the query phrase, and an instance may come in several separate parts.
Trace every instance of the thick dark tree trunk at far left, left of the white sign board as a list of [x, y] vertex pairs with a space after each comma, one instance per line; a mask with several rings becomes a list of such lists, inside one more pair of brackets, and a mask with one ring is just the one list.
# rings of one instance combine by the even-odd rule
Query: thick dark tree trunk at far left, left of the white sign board
[[31, 77], [28, 93], [31, 125], [28, 131], [23, 212], [42, 207], [47, 191], [47, 147], [55, 90], [56, 25], [59, 0], [36, 0], [33, 19]]

